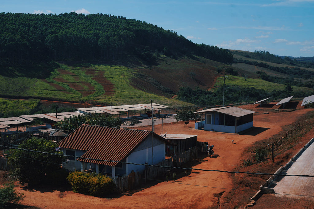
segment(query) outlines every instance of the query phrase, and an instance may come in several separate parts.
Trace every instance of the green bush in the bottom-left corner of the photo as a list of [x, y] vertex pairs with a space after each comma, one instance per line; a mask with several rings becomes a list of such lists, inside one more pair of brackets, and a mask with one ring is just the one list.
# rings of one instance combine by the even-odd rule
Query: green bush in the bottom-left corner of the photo
[[16, 192], [14, 184], [5, 184], [0, 187], [0, 208], [4, 208], [7, 203], [17, 203], [24, 199], [24, 194]]

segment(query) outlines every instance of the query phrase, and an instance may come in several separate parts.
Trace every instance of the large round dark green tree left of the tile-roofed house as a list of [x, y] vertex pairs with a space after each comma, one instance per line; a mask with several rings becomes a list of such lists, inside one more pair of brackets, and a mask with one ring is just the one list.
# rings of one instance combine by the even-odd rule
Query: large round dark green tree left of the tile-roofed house
[[24, 185], [54, 184], [51, 175], [56, 175], [61, 170], [62, 162], [66, 159], [60, 155], [46, 154], [57, 153], [57, 144], [44, 138], [30, 138], [19, 145], [21, 149], [36, 150], [45, 153], [32, 152], [20, 149], [12, 149], [8, 163], [14, 167], [12, 174], [16, 176], [19, 183]]

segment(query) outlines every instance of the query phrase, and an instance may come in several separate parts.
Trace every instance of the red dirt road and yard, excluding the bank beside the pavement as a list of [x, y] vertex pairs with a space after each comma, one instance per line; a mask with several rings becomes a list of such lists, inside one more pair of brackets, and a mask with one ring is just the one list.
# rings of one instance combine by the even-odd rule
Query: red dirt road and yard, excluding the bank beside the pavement
[[[241, 135], [194, 130], [194, 121], [189, 123], [189, 127], [183, 122], [166, 123], [163, 125], [164, 133], [198, 135], [198, 141], [214, 144], [215, 156], [209, 158], [203, 155], [195, 161], [192, 168], [233, 171], [241, 166], [245, 149], [257, 141], [266, 140], [279, 133], [283, 130], [282, 127], [293, 124], [297, 118], [313, 111], [298, 107], [293, 112], [276, 112], [270, 111], [269, 108], [257, 108], [256, 105], [242, 108], [259, 113], [254, 114], [253, 126], [256, 128]], [[263, 114], [265, 111], [270, 114]], [[151, 130], [151, 127], [136, 128]], [[161, 124], [155, 125], [155, 132], [162, 133]], [[234, 144], [231, 140], [234, 140]], [[147, 185], [142, 190], [111, 199], [81, 195], [72, 191], [34, 191], [20, 185], [17, 185], [16, 190], [26, 196], [21, 202], [23, 205], [39, 208], [233, 208], [229, 202], [234, 191], [231, 174], [192, 170], [188, 176], [177, 176], [179, 178], [176, 182], [153, 181], [152, 185]], [[251, 197], [256, 192], [257, 190], [245, 191]]]

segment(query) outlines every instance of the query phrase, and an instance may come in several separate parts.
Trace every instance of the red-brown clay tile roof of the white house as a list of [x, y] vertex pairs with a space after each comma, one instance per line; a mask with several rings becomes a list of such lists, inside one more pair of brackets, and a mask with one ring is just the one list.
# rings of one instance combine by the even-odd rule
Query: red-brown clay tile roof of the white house
[[[58, 145], [66, 149], [86, 151], [84, 158], [122, 161], [143, 142], [151, 131], [82, 125], [64, 138]], [[157, 138], [164, 140], [154, 133]], [[86, 163], [116, 166], [118, 163], [79, 159]]]

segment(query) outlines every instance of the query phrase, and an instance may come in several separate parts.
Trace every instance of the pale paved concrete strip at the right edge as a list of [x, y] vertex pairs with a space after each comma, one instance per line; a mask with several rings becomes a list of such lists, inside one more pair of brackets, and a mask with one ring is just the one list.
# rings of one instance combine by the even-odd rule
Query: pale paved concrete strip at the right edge
[[[314, 143], [304, 150], [286, 172], [281, 174], [314, 175]], [[279, 177], [277, 181], [274, 187], [277, 194], [314, 196], [314, 177], [284, 176]]]

